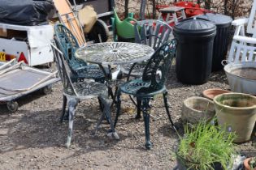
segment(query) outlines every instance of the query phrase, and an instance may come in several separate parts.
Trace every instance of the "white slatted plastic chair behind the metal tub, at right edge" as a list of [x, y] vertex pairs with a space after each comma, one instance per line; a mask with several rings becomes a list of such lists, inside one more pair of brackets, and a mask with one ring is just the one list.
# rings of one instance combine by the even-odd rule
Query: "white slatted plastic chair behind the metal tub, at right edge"
[[[236, 26], [232, 45], [228, 55], [228, 62], [256, 62], [256, 0], [250, 11], [249, 19], [236, 19], [232, 22]], [[245, 34], [245, 25], [247, 26]], [[247, 36], [250, 35], [250, 36]]]

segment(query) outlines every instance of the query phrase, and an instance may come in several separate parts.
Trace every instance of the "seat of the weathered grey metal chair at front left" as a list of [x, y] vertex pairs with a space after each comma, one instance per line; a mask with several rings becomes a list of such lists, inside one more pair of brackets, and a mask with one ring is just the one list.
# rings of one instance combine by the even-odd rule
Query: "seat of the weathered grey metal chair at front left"
[[[73, 87], [79, 99], [90, 99], [97, 96], [107, 96], [107, 87], [103, 83], [97, 83], [93, 80], [86, 80], [85, 82], [73, 83]], [[66, 95], [72, 95], [72, 88], [69, 87], [65, 91]]]

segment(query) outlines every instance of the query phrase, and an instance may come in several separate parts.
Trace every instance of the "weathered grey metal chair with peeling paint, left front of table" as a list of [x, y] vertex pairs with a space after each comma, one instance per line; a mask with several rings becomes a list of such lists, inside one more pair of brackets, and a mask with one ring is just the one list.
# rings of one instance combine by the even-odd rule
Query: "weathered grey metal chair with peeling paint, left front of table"
[[[106, 120], [111, 124], [111, 130], [108, 131], [108, 136], [112, 135], [115, 139], [119, 139], [119, 135], [115, 131], [114, 124], [111, 120], [111, 100], [107, 96], [107, 87], [103, 83], [94, 82], [92, 79], [85, 79], [83, 82], [72, 82], [70, 75], [72, 74], [67, 60], [64, 59], [63, 53], [55, 46], [51, 45], [54, 52], [54, 59], [59, 70], [59, 76], [63, 83], [63, 96], [67, 99], [68, 108], [68, 133], [66, 147], [71, 145], [73, 122], [76, 112], [76, 106], [80, 100], [89, 100], [98, 97], [102, 105], [102, 117], [99, 119], [94, 134], [98, 130], [98, 126], [106, 117]], [[65, 108], [63, 103], [63, 108]], [[62, 113], [62, 118], [64, 113]]]

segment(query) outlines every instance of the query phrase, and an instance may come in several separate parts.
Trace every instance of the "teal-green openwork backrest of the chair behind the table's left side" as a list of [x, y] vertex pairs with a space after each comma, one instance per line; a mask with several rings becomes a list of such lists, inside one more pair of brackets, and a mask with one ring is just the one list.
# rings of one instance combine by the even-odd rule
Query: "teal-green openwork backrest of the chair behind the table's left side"
[[76, 68], [79, 68], [80, 66], [86, 66], [86, 62], [80, 61], [74, 56], [79, 45], [72, 32], [66, 26], [59, 23], [54, 25], [54, 32], [59, 49], [63, 52], [63, 55], [72, 70], [76, 70]]

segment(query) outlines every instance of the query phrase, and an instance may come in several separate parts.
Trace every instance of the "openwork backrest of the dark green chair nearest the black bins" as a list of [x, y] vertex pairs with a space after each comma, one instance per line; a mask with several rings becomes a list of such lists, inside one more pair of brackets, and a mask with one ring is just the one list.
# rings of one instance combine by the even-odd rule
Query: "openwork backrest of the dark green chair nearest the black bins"
[[142, 80], [150, 81], [147, 91], [161, 89], [166, 82], [172, 59], [176, 55], [176, 39], [167, 41], [150, 58], [143, 71]]

